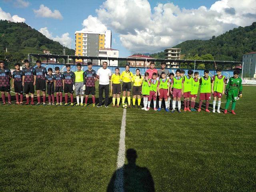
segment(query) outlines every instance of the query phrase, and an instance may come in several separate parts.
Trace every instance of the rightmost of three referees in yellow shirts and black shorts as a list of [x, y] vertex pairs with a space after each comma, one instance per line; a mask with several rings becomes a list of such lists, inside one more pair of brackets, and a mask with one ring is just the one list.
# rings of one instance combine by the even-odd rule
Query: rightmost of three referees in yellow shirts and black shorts
[[136, 97], [138, 98], [138, 108], [140, 108], [140, 95], [141, 95], [141, 91], [142, 91], [142, 81], [143, 78], [141, 77], [140, 74], [140, 70], [136, 69], [136, 75], [134, 75], [132, 77], [132, 82], [134, 82], [133, 84], [133, 88], [132, 88], [132, 107], [135, 108], [135, 102], [136, 102]]

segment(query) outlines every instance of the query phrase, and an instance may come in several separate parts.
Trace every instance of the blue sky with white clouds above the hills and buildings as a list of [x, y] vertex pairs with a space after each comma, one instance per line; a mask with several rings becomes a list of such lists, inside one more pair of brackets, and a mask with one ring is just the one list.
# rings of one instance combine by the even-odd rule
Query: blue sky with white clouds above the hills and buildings
[[74, 48], [74, 32], [112, 30], [120, 56], [155, 53], [256, 21], [256, 0], [0, 0], [0, 19], [26, 22]]

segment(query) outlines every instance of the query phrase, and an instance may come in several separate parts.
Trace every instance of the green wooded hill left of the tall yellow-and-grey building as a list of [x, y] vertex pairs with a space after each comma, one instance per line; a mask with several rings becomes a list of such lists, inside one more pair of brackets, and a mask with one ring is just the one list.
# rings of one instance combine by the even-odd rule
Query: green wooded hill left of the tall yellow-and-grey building
[[67, 55], [75, 54], [75, 50], [50, 40], [26, 23], [0, 20], [0, 59], [20, 61], [27, 58], [28, 53], [43, 53], [45, 49], [51, 54], [62, 54], [63, 48]]

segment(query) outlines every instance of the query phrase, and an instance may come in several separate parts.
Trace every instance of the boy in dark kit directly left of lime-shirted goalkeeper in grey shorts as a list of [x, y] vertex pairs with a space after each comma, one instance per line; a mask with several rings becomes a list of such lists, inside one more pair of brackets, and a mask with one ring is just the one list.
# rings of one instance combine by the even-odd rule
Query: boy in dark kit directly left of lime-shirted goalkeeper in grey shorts
[[70, 71], [70, 64], [66, 64], [66, 71], [63, 74], [63, 78], [64, 78], [64, 93], [65, 93], [65, 104], [64, 106], [68, 105], [68, 93], [70, 94], [70, 100], [71, 100], [71, 104], [70, 106], [74, 106], [73, 101], [74, 101], [74, 97], [73, 97], [73, 93], [74, 93], [74, 72]]

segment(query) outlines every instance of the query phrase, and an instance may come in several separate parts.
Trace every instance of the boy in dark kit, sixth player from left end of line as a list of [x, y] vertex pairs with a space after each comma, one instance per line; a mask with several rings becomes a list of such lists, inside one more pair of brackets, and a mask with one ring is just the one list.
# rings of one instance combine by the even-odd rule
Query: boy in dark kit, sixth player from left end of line
[[55, 67], [54, 82], [55, 82], [55, 92], [56, 92], [56, 105], [62, 105], [62, 92], [64, 89], [64, 75], [60, 73], [60, 68]]

